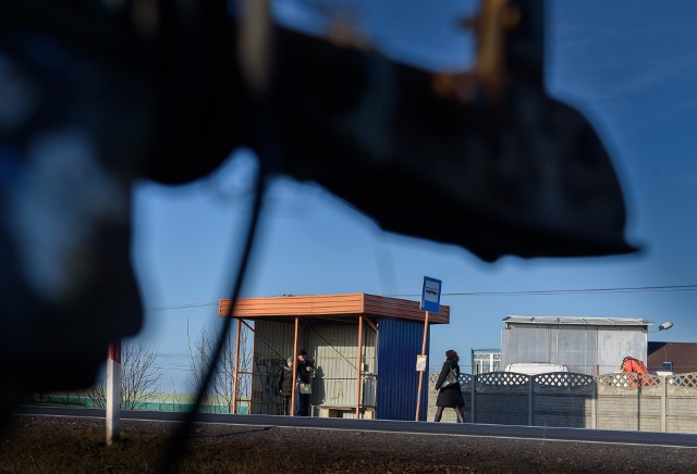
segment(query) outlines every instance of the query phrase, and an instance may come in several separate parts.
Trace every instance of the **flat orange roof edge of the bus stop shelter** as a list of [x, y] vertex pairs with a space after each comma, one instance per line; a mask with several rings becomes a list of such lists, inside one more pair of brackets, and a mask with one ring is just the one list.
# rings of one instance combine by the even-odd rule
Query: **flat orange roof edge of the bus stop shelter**
[[[221, 299], [218, 315], [224, 317], [230, 311], [231, 299]], [[381, 297], [368, 294], [280, 296], [266, 298], [241, 298], [235, 304], [233, 317], [245, 320], [272, 319], [323, 319], [348, 322], [358, 315], [395, 317], [400, 320], [424, 321], [419, 301]], [[429, 313], [429, 323], [449, 324], [450, 307], [440, 305], [438, 313]]]

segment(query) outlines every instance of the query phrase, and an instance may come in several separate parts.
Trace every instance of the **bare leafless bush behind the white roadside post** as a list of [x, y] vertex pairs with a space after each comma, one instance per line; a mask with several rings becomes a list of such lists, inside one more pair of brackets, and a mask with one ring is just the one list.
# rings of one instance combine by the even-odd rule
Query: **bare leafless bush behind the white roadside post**
[[[124, 341], [121, 346], [121, 408], [142, 408], [158, 388], [162, 373], [155, 367], [157, 351], [143, 344]], [[105, 408], [107, 403], [107, 382], [102, 373], [97, 382], [81, 394], [91, 401], [93, 407]]]

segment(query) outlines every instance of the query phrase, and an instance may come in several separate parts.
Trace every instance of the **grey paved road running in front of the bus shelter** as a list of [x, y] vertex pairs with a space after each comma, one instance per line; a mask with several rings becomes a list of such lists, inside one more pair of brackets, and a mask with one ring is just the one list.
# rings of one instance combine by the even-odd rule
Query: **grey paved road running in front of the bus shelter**
[[[21, 407], [17, 414], [105, 417], [105, 410], [62, 407]], [[122, 420], [143, 420], [160, 422], [181, 422], [181, 412], [131, 411], [122, 410]], [[491, 438], [543, 439], [546, 441], [575, 441], [621, 444], [640, 446], [662, 446], [680, 448], [697, 448], [697, 435], [678, 433], [619, 432], [582, 428], [551, 428], [539, 426], [505, 426], [484, 424], [425, 423], [389, 420], [350, 420], [294, 417], [273, 415], [233, 415], [201, 413], [199, 423], [246, 425], [246, 426], [282, 426], [314, 429], [348, 429], [359, 432], [416, 433], [424, 435], [476, 436]]]

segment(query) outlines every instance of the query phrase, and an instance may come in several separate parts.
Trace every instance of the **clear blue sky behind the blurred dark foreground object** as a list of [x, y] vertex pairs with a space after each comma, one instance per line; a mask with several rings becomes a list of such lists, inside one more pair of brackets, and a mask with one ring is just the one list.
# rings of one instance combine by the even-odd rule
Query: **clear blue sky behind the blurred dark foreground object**
[[[302, 8], [307, 3], [328, 4], [279, 0], [277, 14], [311, 29], [318, 9]], [[470, 63], [472, 38], [452, 25], [473, 1], [337, 3], [353, 5], [342, 15], [392, 58], [428, 68]], [[582, 110], [610, 150], [627, 202], [626, 237], [640, 252], [486, 264], [461, 248], [383, 233], [319, 186], [280, 177], [269, 191], [244, 296], [369, 292], [417, 300], [425, 275], [442, 279], [451, 324], [432, 328], [437, 365], [450, 348], [467, 360], [472, 348], [500, 347], [501, 320], [511, 314], [672, 321], [674, 328], [649, 340], [697, 340], [692, 290], [448, 295], [697, 284], [697, 2], [557, 0], [548, 17], [548, 88]], [[210, 327], [215, 303], [230, 294], [254, 166], [248, 151], [236, 150], [200, 182], [135, 188], [133, 260], [147, 308], [138, 339], [158, 351], [160, 366], [173, 369], [163, 389], [181, 386], [188, 369], [186, 325], [193, 333]]]

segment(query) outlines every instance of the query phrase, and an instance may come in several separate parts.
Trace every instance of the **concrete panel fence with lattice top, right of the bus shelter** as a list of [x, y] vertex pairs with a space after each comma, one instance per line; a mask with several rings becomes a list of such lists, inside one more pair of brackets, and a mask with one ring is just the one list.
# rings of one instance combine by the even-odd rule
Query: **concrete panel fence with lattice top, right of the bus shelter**
[[[428, 420], [437, 372], [429, 374]], [[697, 434], [697, 373], [671, 376], [555, 372], [461, 374], [467, 423]], [[445, 409], [443, 422], [455, 422]]]

